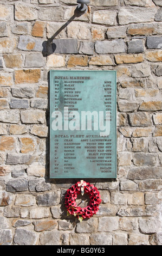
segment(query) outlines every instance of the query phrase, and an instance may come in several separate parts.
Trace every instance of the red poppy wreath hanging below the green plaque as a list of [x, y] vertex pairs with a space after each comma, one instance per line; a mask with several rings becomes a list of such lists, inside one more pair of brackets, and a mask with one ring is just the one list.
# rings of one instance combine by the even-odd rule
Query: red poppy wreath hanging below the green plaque
[[[84, 187], [84, 192], [89, 195], [90, 202], [85, 208], [80, 208], [76, 205], [77, 195], [81, 193], [81, 187]], [[77, 216], [78, 220], [81, 222], [85, 218], [90, 218], [99, 210], [99, 204], [101, 203], [101, 196], [98, 189], [91, 185], [89, 182], [83, 181], [77, 182], [71, 188], [67, 190], [65, 196], [65, 206], [67, 208], [67, 215]]]

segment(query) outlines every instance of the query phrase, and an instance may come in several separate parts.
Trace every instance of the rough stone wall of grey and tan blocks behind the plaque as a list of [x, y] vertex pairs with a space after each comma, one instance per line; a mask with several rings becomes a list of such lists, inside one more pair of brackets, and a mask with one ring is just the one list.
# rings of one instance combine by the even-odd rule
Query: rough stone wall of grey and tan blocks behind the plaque
[[[0, 3], [0, 245], [161, 245], [162, 2]], [[54, 51], [52, 39], [65, 41]], [[57, 41], [56, 41], [57, 43]], [[98, 214], [67, 216], [74, 179], [49, 179], [48, 72], [116, 70], [118, 178]]]

